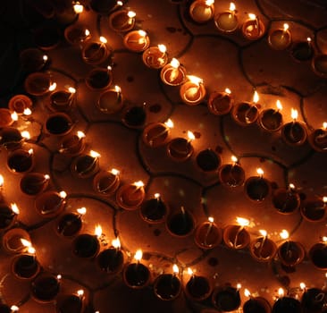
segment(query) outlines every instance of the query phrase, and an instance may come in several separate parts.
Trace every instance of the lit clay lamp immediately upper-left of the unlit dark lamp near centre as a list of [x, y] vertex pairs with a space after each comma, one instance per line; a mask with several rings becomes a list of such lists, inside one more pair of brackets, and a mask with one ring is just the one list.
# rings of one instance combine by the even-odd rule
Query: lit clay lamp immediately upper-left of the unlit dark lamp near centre
[[167, 152], [172, 160], [176, 162], [184, 162], [192, 156], [194, 148], [191, 142], [195, 139], [192, 131], [188, 131], [188, 137], [189, 140], [178, 137], [168, 142]]

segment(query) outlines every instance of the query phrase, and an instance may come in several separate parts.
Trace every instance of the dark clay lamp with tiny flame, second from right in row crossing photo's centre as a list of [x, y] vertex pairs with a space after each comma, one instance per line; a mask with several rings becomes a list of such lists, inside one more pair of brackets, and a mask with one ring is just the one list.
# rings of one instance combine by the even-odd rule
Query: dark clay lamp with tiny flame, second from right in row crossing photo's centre
[[278, 188], [272, 192], [272, 205], [279, 213], [291, 214], [298, 209], [300, 203], [300, 196], [292, 183], [289, 188]]

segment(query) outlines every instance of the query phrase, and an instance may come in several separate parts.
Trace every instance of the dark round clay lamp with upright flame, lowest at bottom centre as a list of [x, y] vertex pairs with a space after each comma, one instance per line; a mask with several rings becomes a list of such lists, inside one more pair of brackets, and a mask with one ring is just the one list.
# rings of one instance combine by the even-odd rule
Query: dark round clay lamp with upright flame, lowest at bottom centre
[[160, 300], [174, 300], [180, 295], [181, 283], [177, 276], [180, 272], [179, 266], [172, 266], [173, 274], [162, 274], [155, 278], [154, 292]]

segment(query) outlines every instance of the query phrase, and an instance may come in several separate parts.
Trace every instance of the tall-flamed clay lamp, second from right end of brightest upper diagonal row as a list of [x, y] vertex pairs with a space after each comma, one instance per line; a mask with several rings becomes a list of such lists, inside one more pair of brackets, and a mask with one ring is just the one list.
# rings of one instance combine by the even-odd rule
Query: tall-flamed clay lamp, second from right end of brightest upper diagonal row
[[281, 127], [281, 137], [291, 146], [300, 146], [306, 142], [306, 125], [298, 122], [298, 110], [291, 109], [292, 122]]

